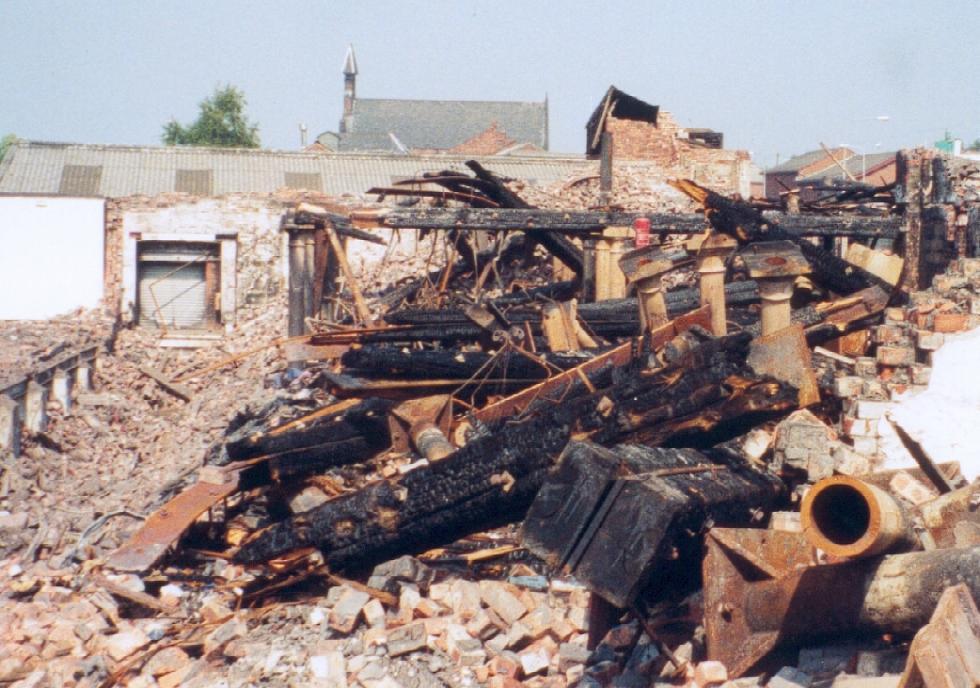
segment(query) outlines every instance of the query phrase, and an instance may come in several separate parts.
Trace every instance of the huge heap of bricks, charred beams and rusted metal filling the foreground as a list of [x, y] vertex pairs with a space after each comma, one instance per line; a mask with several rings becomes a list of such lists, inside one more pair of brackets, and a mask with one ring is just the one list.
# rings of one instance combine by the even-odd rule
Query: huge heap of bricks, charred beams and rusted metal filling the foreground
[[[446, 198], [557, 217], [475, 172]], [[0, 683], [976, 681], [980, 482], [899, 412], [977, 324], [976, 260], [906, 297], [806, 218], [677, 188], [706, 236], [617, 256], [568, 211], [480, 247], [483, 215], [435, 208], [443, 257], [385, 286], [341, 248], [348, 315], [312, 334], [283, 302], [193, 353], [119, 332], [5, 464]]]

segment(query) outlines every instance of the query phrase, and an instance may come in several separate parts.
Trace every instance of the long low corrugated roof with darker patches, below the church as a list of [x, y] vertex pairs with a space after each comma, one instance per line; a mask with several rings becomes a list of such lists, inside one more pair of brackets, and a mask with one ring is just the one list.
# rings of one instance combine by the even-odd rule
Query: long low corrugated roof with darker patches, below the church
[[316, 180], [322, 188], [311, 191], [335, 196], [357, 195], [372, 186], [390, 186], [394, 181], [423, 172], [466, 171], [463, 163], [471, 159], [497, 174], [539, 184], [594, 171], [594, 164], [583, 156], [556, 154], [409, 156], [19, 141], [0, 162], [0, 193], [112, 198], [193, 191], [178, 188], [178, 179], [195, 188], [198, 184], [205, 188], [206, 179], [213, 195], [273, 192]]

